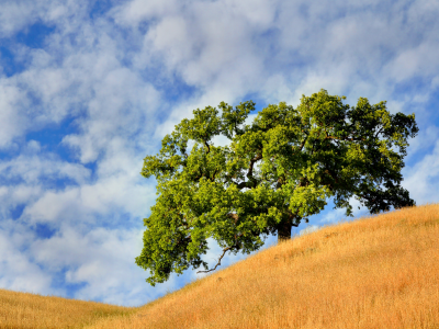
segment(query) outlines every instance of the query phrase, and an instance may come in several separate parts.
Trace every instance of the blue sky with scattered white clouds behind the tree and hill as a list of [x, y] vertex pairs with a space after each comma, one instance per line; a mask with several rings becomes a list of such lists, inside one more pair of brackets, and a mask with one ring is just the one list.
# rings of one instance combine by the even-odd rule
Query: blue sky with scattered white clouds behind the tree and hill
[[[145, 282], [135, 258], [157, 182], [139, 172], [175, 125], [222, 101], [256, 102], [247, 124], [320, 89], [415, 113], [402, 185], [437, 203], [438, 15], [436, 0], [0, 0], [0, 288], [140, 306], [206, 275]], [[292, 234], [346, 218], [333, 207]]]

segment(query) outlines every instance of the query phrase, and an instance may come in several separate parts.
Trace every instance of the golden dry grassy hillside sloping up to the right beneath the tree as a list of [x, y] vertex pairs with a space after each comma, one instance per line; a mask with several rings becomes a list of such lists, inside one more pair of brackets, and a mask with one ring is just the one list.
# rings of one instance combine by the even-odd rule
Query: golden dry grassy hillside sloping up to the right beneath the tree
[[324, 227], [136, 308], [0, 290], [0, 328], [439, 328], [439, 204]]

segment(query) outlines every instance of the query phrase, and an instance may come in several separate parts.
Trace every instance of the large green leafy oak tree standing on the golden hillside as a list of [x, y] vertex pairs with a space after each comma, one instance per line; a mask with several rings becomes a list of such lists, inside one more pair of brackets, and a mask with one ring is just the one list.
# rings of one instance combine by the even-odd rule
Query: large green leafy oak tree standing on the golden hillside
[[[251, 126], [243, 123], [255, 110], [252, 101], [235, 110], [222, 102], [221, 117], [206, 106], [176, 125], [142, 170], [158, 181], [136, 258], [149, 269], [146, 281], [155, 286], [190, 265], [213, 271], [227, 251], [258, 250], [260, 236], [291, 239], [292, 226], [323, 211], [328, 197], [335, 208], [346, 207], [347, 216], [351, 196], [372, 214], [415, 205], [401, 186], [407, 138], [418, 133], [415, 114], [392, 115], [385, 101], [370, 105], [360, 98], [350, 107], [341, 99], [322, 89], [303, 95], [295, 110], [283, 102], [269, 105]], [[221, 134], [229, 146], [214, 146], [212, 138]], [[188, 155], [189, 139], [194, 146]], [[223, 253], [207, 270], [200, 256], [210, 237]]]

